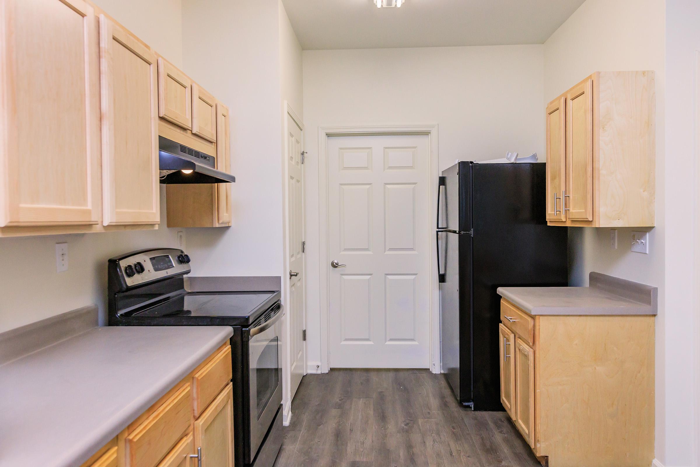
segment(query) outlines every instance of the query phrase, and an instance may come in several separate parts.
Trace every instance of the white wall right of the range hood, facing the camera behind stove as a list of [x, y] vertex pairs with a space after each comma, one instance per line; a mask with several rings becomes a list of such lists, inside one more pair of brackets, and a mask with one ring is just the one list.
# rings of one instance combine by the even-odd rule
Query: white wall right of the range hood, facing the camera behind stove
[[188, 229], [200, 276], [282, 273], [278, 0], [183, 0], [187, 73], [229, 106], [233, 225]]

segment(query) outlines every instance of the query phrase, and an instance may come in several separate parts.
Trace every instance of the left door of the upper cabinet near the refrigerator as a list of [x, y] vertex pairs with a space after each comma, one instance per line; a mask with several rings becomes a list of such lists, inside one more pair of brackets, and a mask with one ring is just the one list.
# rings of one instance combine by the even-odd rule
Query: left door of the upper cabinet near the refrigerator
[[566, 221], [566, 97], [547, 107], [547, 221]]

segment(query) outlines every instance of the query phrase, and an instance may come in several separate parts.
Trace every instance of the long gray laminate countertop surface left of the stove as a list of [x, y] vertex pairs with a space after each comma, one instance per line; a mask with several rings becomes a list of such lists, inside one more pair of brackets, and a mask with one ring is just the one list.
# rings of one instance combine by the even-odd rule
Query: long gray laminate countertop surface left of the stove
[[96, 327], [1, 365], [0, 466], [80, 466], [232, 333]]

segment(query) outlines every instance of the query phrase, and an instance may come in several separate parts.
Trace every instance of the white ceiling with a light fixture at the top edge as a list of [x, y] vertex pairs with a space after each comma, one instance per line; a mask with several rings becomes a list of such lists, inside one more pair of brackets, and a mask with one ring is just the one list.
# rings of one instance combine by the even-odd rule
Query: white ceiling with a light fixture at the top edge
[[304, 50], [541, 44], [584, 0], [282, 0]]

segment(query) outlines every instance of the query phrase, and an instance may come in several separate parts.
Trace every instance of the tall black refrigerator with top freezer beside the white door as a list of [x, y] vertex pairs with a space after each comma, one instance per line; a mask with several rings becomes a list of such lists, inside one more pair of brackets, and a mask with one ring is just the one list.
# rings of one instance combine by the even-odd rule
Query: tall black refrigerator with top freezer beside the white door
[[459, 162], [437, 208], [442, 372], [463, 405], [503, 410], [501, 286], [566, 286], [565, 227], [545, 219], [545, 164]]

